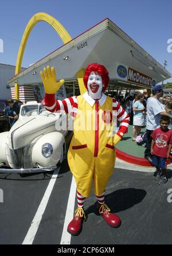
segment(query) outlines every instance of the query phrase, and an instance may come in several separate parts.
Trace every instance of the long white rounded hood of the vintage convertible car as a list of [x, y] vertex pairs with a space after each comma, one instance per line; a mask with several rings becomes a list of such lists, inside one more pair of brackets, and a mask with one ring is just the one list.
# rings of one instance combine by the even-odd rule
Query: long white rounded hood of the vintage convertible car
[[55, 124], [60, 121], [60, 116], [32, 116], [19, 119], [10, 129], [9, 148], [18, 149], [36, 142], [40, 136], [56, 131]]

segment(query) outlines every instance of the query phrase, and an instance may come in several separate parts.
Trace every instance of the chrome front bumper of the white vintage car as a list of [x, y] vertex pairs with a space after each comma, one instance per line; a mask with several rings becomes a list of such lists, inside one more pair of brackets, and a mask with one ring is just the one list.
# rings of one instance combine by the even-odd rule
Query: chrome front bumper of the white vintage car
[[[1, 165], [0, 165], [1, 166]], [[57, 166], [51, 167], [40, 167], [40, 168], [28, 168], [28, 169], [4, 169], [0, 168], [0, 174], [31, 174], [37, 172], [46, 172], [46, 171], [53, 171], [57, 168]]]

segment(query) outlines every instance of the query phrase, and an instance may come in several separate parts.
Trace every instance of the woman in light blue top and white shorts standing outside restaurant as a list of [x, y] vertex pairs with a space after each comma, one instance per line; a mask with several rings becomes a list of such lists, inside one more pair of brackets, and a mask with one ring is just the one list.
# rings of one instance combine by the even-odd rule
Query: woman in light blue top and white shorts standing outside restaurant
[[140, 135], [140, 131], [142, 127], [144, 126], [144, 119], [145, 115], [143, 115], [143, 111], [145, 109], [143, 105], [144, 95], [142, 93], [139, 93], [137, 96], [137, 100], [135, 101], [133, 105], [133, 112], [134, 112], [134, 119], [133, 119], [133, 136], [132, 141], [135, 141], [136, 136]]

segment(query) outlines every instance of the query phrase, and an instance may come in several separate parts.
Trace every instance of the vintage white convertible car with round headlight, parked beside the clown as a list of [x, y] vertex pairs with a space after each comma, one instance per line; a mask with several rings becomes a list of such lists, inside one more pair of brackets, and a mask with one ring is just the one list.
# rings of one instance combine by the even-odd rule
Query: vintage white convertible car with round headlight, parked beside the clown
[[57, 129], [62, 122], [65, 113], [49, 112], [37, 101], [22, 105], [11, 130], [0, 133], [0, 173], [54, 170], [66, 150], [68, 127]]

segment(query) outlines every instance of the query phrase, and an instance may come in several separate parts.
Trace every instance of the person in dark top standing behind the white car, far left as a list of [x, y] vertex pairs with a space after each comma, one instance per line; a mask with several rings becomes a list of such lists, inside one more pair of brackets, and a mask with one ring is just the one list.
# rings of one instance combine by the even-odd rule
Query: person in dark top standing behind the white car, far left
[[5, 108], [5, 116], [9, 118], [10, 127], [18, 120], [19, 107], [17, 104], [14, 104], [13, 99], [7, 99], [7, 106]]

